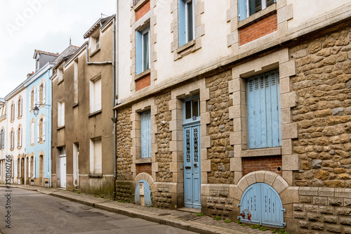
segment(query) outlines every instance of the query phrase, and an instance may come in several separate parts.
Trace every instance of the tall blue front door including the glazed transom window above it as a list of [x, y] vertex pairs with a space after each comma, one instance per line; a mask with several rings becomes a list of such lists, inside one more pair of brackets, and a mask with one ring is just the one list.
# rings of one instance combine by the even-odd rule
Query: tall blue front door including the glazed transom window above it
[[201, 209], [201, 156], [199, 97], [183, 104], [185, 207]]

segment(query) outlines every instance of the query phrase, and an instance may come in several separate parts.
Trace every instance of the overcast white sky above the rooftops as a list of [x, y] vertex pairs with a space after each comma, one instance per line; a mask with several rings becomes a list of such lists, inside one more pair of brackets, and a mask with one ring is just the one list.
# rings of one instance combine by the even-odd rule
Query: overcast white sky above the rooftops
[[34, 49], [61, 53], [81, 46], [83, 34], [115, 13], [116, 0], [0, 0], [0, 98], [35, 70]]

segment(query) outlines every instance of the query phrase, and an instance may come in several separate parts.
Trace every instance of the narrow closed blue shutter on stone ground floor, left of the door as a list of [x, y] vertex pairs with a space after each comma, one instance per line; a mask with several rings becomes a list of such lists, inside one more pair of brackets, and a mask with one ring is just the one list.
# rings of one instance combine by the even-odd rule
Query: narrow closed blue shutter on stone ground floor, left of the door
[[147, 110], [141, 117], [141, 158], [151, 157], [151, 112]]

